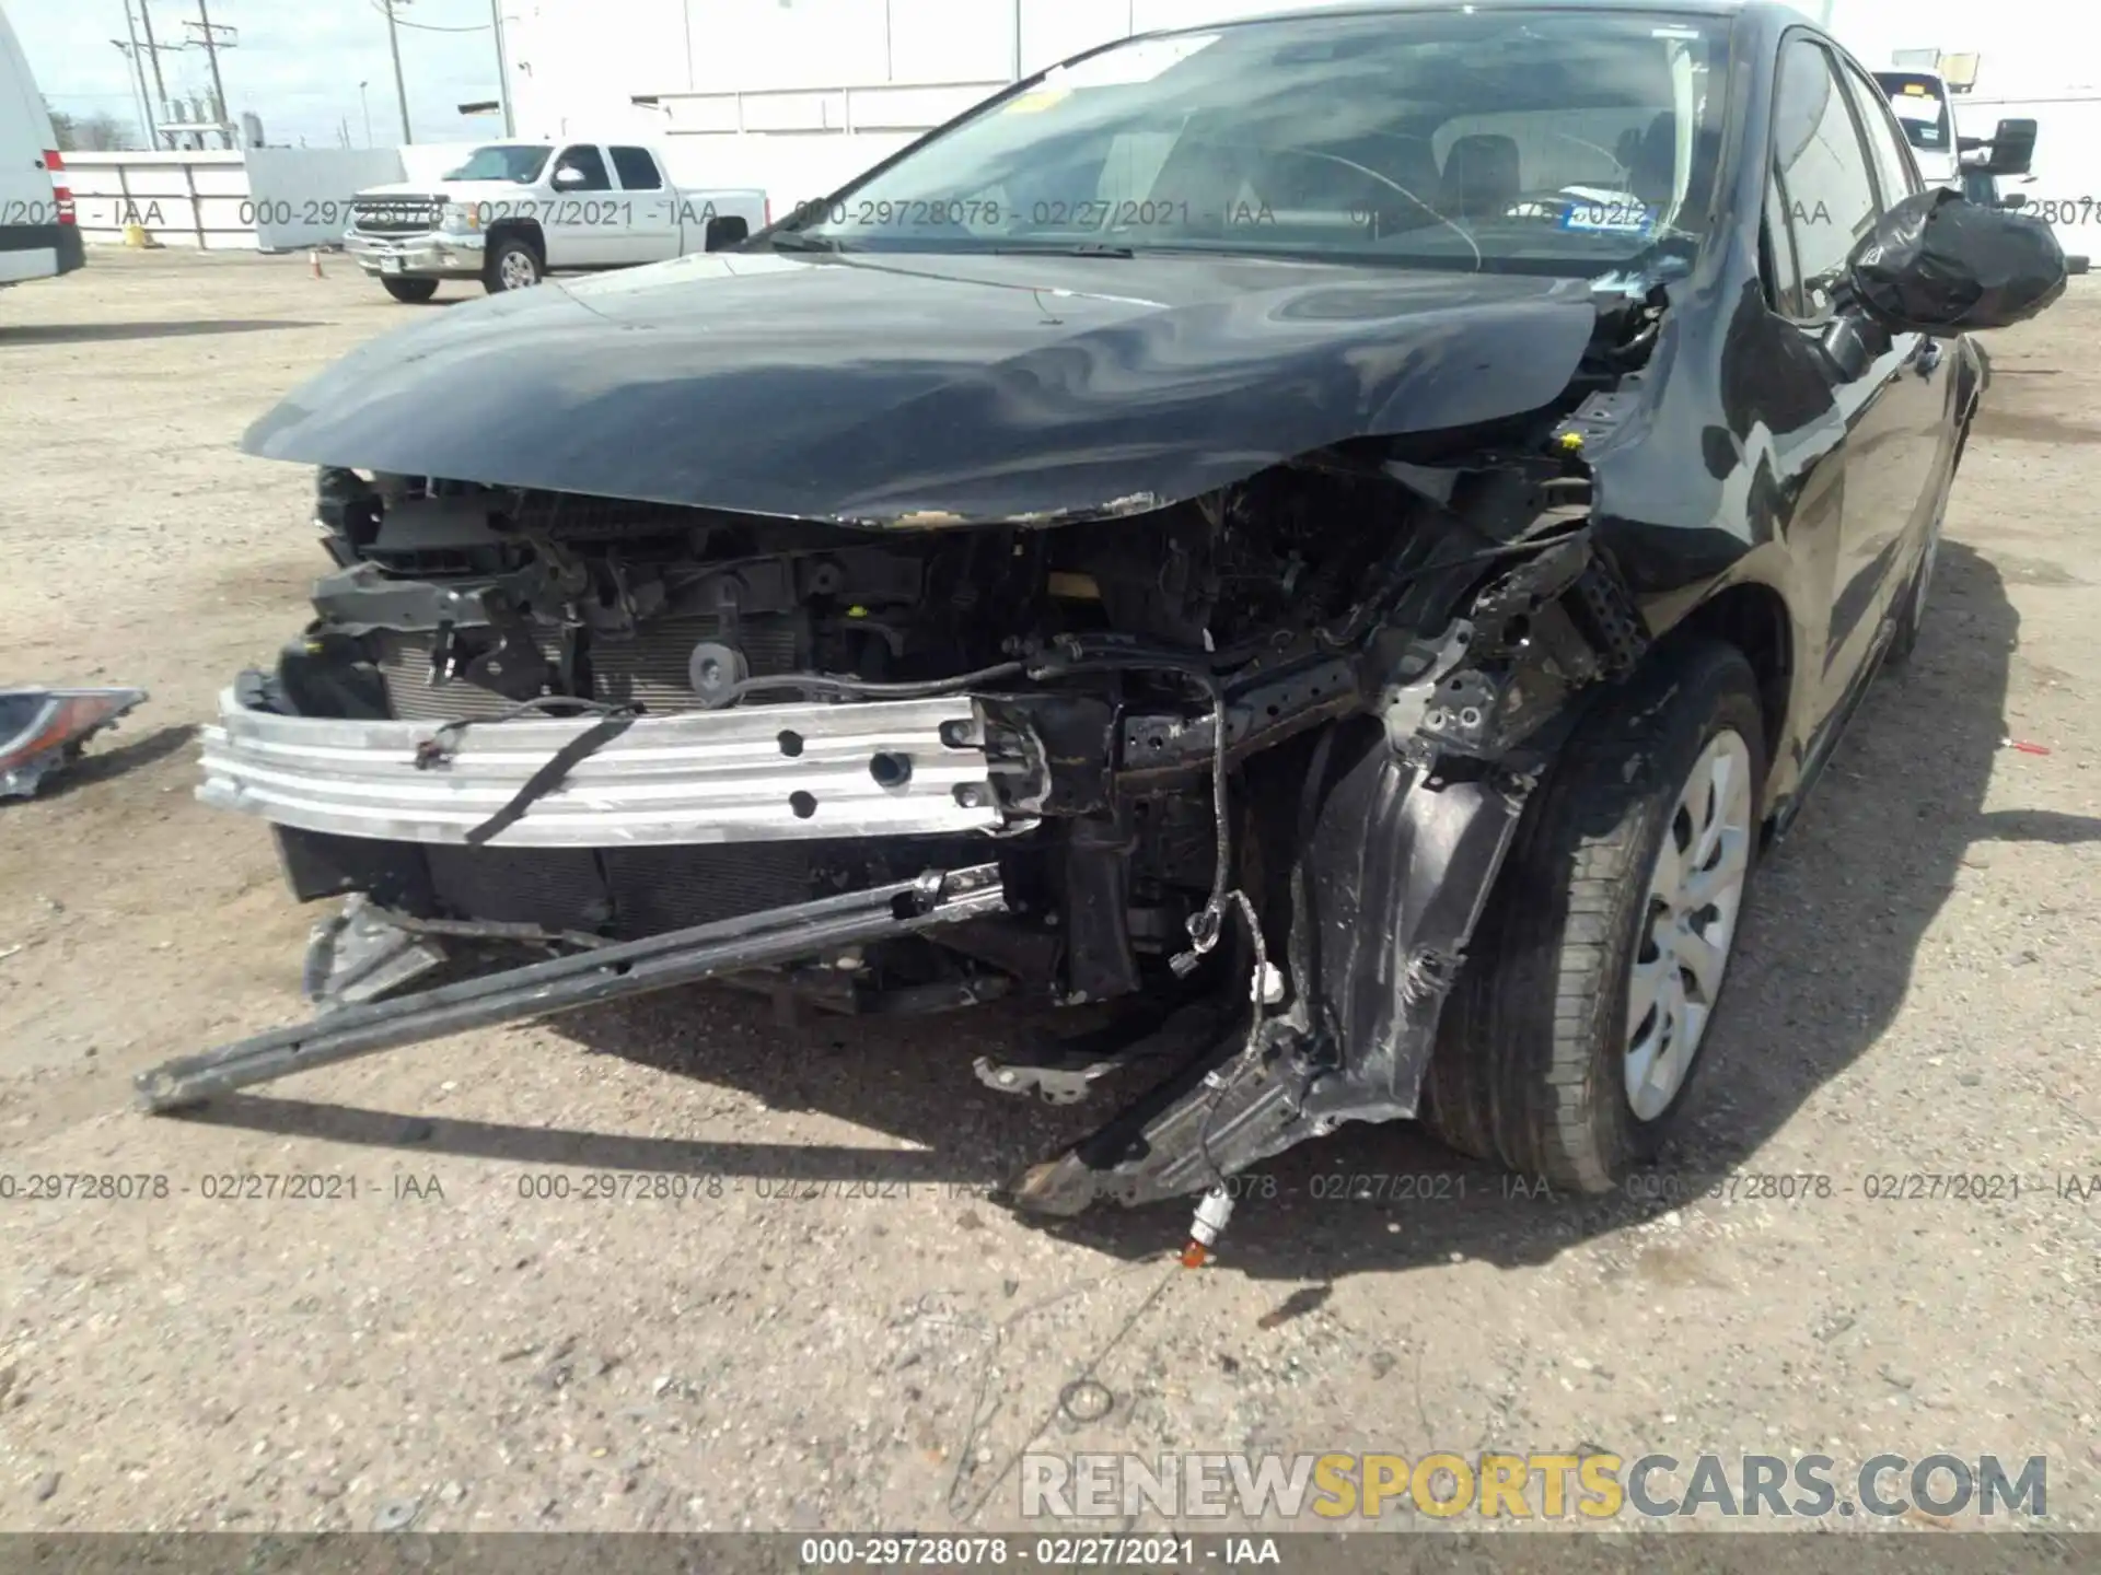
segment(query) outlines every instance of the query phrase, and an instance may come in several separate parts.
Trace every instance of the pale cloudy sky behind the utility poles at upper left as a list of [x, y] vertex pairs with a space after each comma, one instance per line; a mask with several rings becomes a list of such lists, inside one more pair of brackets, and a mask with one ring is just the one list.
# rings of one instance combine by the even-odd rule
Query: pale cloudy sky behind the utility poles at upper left
[[[366, 145], [357, 84], [366, 82], [372, 143], [401, 141], [393, 61], [380, 0], [204, 0], [212, 23], [233, 27], [237, 44], [219, 52], [227, 109], [263, 118], [271, 145], [336, 147], [349, 126], [353, 147]], [[141, 0], [130, 0], [137, 15]], [[197, 0], [145, 0], [162, 48], [168, 97], [210, 90], [202, 48], [166, 46], [193, 38]], [[53, 109], [74, 116], [109, 113], [139, 126], [139, 94], [130, 61], [109, 40], [124, 40], [126, 0], [0, 0], [29, 71]], [[508, 6], [517, 10], [517, 6]], [[397, 0], [401, 76], [418, 143], [487, 136], [494, 116], [462, 118], [454, 105], [496, 97], [496, 44], [487, 0]], [[410, 23], [418, 23], [412, 27]], [[471, 27], [441, 34], [429, 27]], [[508, 27], [506, 27], [508, 32]], [[143, 34], [141, 34], [143, 38]], [[151, 71], [147, 74], [151, 82]], [[143, 139], [141, 139], [143, 141]]]

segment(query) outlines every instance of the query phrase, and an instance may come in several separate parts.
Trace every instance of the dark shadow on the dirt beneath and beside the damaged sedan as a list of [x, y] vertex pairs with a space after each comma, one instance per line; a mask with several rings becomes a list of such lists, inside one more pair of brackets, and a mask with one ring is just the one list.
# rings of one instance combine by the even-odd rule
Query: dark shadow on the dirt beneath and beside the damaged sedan
[[[1914, 666], [1885, 674], [1855, 716], [1790, 840], [1761, 869], [1710, 1063], [1672, 1149], [1609, 1197], [1544, 1186], [1454, 1157], [1412, 1124], [1351, 1128], [1292, 1149], [1246, 1182], [1229, 1262], [1256, 1277], [1551, 1258], [1572, 1241], [1666, 1212], [1733, 1170], [1889, 1027], [1925, 928], [1973, 842], [2101, 840], [2101, 821], [1983, 813], [2002, 741], [2019, 620], [1996, 569], [1946, 542], [1935, 611]], [[1013, 1014], [834, 1023], [786, 1031], [763, 1004], [674, 991], [555, 1018], [584, 1052], [746, 1090], [769, 1111], [815, 1111], [912, 1149], [683, 1142], [420, 1119], [275, 1098], [233, 1098], [191, 1119], [311, 1132], [338, 1142], [754, 1180], [859, 1180], [994, 1189], [1114, 1109], [1046, 1107], [971, 1075], [1021, 1025]], [[1122, 1090], [1128, 1096], [1137, 1088]], [[1114, 1208], [1050, 1224], [1118, 1256], [1179, 1245], [1187, 1203]]]

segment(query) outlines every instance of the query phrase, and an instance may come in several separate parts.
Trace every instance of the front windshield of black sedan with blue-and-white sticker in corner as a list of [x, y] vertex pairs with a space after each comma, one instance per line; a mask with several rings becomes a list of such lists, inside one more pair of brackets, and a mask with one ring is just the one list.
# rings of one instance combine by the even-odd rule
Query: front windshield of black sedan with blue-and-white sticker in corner
[[1590, 273], [1704, 229], [1725, 74], [1727, 23], [1677, 13], [1160, 34], [1055, 67], [786, 229], [870, 252]]

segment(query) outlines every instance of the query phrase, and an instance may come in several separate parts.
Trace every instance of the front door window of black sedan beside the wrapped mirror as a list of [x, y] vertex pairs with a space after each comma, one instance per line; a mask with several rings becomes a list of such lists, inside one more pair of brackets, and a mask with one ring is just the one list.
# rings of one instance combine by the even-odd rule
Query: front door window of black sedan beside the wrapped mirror
[[1830, 286], [1880, 214], [1868, 151], [1830, 55], [1803, 36], [1780, 57], [1773, 164], [1803, 281], [1803, 315], [1830, 313]]

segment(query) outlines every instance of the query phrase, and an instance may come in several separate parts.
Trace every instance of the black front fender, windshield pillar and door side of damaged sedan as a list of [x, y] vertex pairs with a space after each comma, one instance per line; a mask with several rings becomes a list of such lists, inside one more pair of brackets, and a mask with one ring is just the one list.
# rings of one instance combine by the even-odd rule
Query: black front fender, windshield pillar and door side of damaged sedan
[[1792, 8], [1735, 13], [1708, 242], [1664, 286], [1670, 309], [1626, 414], [1584, 447], [1599, 540], [1653, 634], [1729, 590], [1784, 615], [1786, 708], [1763, 800], [1780, 823], [1874, 674], [1979, 376], [1967, 338], [1922, 365], [1925, 336], [1899, 334], [1845, 378], [1817, 342], [1828, 319], [1771, 304], [1761, 223], [1777, 63], [1796, 36], [1851, 59]]

